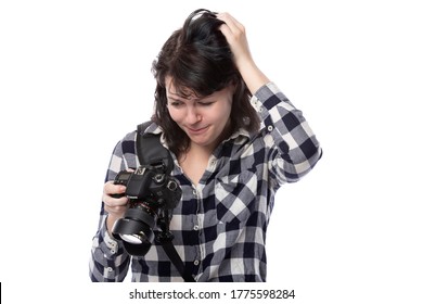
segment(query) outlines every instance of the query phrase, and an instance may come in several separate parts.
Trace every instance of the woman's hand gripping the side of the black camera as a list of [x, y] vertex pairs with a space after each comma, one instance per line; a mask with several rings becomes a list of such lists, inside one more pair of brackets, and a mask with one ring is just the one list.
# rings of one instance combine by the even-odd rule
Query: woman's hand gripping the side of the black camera
[[121, 198], [113, 198], [113, 194], [124, 194], [126, 187], [123, 185], [115, 185], [113, 181], [107, 181], [103, 187], [103, 203], [104, 210], [108, 213], [107, 216], [107, 231], [112, 232], [115, 221], [124, 217], [125, 212], [128, 210], [128, 198], [123, 195]]

